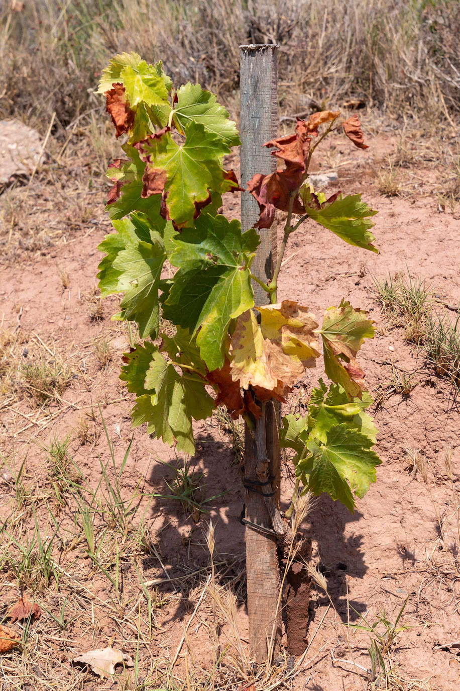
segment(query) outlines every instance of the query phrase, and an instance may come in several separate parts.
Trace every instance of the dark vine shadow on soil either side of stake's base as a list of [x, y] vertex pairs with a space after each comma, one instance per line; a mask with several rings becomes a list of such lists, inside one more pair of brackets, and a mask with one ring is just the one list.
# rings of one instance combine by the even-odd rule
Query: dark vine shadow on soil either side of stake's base
[[[150, 486], [154, 486], [157, 493], [170, 495], [171, 486], [177, 471], [174, 468], [183, 467], [183, 456], [173, 457], [168, 464], [156, 462], [150, 466], [146, 478]], [[197, 439], [197, 453], [188, 464], [190, 480], [201, 485], [194, 493], [194, 500], [201, 504], [203, 511], [199, 520], [195, 514], [192, 517], [192, 507], [185, 508], [179, 499], [157, 499], [152, 504], [151, 516], [155, 520], [155, 533], [161, 548], [161, 559], [170, 578], [183, 577], [192, 571], [203, 571], [194, 576], [193, 587], [203, 587], [206, 580], [206, 567], [210, 564], [210, 555], [206, 547], [205, 534], [210, 519], [216, 527], [216, 548], [214, 562], [217, 565], [217, 582], [231, 587], [241, 602], [246, 599], [246, 578], [244, 572], [244, 528], [239, 522], [243, 507], [243, 487], [241, 483], [241, 469], [233, 462], [232, 451], [228, 444], [208, 436], [201, 435]], [[159, 521], [161, 516], [161, 521]], [[310, 514], [309, 536], [318, 542], [321, 555], [321, 569], [327, 580], [328, 589], [337, 612], [347, 621], [346, 579], [344, 574], [353, 578], [362, 578], [367, 567], [361, 553], [361, 536], [345, 538], [346, 524], [357, 521], [361, 513], [351, 514], [339, 502], [332, 502], [326, 495], [320, 497]], [[152, 569], [152, 577], [163, 577], [159, 561], [156, 556], [146, 556], [145, 569]], [[188, 601], [190, 579], [173, 580], [171, 584], [162, 586], [168, 590], [176, 587], [181, 590], [181, 600], [170, 618], [170, 622], [186, 616], [190, 611]], [[320, 596], [319, 605], [323, 605]], [[366, 605], [354, 600], [348, 603], [350, 607], [350, 621], [355, 621], [358, 615], [353, 612], [365, 612]], [[315, 612], [310, 609], [311, 621]]]

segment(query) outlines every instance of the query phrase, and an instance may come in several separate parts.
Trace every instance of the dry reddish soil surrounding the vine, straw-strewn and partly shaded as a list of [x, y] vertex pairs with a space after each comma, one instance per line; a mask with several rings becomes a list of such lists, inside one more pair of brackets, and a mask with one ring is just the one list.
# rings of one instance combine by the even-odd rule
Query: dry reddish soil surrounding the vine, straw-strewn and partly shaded
[[[381, 278], [388, 272], [419, 276], [430, 283], [432, 291], [443, 301], [459, 304], [460, 215], [455, 208], [443, 211], [439, 206], [434, 195], [439, 170], [423, 157], [412, 158], [406, 167], [399, 169], [401, 196], [388, 198], [379, 193], [379, 169], [389, 154], [397, 152], [397, 138], [381, 134], [369, 143], [373, 146], [367, 151], [348, 148], [341, 151], [333, 144], [323, 169], [338, 172], [339, 179], [330, 189], [340, 186], [346, 193], [362, 191], [363, 198], [378, 209], [374, 234], [380, 254], [349, 247], [326, 229], [305, 225], [288, 247], [279, 297], [309, 305], [317, 314], [345, 298], [352, 305], [369, 310], [377, 322], [377, 335], [363, 347], [360, 361], [370, 391], [379, 401], [374, 406], [374, 415], [379, 427], [377, 451], [383, 462], [378, 469], [377, 483], [359, 500], [353, 515], [328, 498], [321, 497], [314, 504], [305, 530], [321, 557], [321, 570], [328, 582], [333, 607], [321, 589], [312, 590], [308, 653], [286, 681], [283, 675], [290, 665], [292, 668], [292, 663], [281, 661], [271, 673], [271, 681], [264, 681], [266, 689], [273, 685], [285, 688], [294, 685], [311, 691], [363, 688], [368, 676], [362, 668], [370, 668], [366, 650], [370, 637], [349, 630], [350, 651], [345, 638], [347, 622], [357, 623], [357, 612], [374, 622], [383, 609], [394, 622], [406, 597], [408, 603], [400, 623], [410, 628], [399, 634], [392, 647], [394, 672], [390, 688], [442, 691], [459, 688], [457, 549], [460, 544], [456, 509], [460, 456], [455, 448], [459, 403], [452, 386], [436, 374], [423, 352], [404, 340], [401, 328], [390, 328], [383, 319], [372, 276]], [[52, 557], [58, 565], [59, 585], [50, 578], [48, 586], [36, 587], [36, 600], [43, 605], [42, 616], [30, 625], [24, 649], [18, 647], [1, 656], [0, 667], [3, 665], [6, 681], [0, 681], [0, 688], [143, 688], [140, 682], [136, 687], [134, 682], [129, 682], [132, 686], [123, 686], [112, 679], [99, 681], [92, 672], [85, 672], [84, 667], [70, 663], [73, 656], [109, 643], [133, 657], [138, 656], [139, 679], [148, 677], [148, 670], [154, 670], [155, 666], [157, 672], [152, 672], [152, 679], [163, 670], [164, 681], [157, 685], [168, 688], [173, 688], [172, 681], [166, 680], [173, 676], [176, 677], [174, 688], [184, 687], [187, 651], [190, 679], [192, 685], [197, 685], [200, 679], [207, 679], [201, 670], [212, 667], [213, 607], [208, 596], [203, 598], [193, 618], [186, 645], [179, 654], [179, 665], [172, 673], [167, 671], [166, 660], [174, 657], [183, 626], [189, 621], [210, 574], [210, 556], [203, 537], [209, 518], [216, 525], [217, 587], [226, 586], [234, 593], [237, 625], [247, 654], [244, 529], [239, 523], [244, 491], [231, 439], [218, 419], [197, 424], [197, 455], [190, 459], [190, 473], [203, 474], [202, 489], [195, 493], [195, 499], [201, 501], [202, 496], [208, 501], [195, 522], [190, 511], [184, 511], [177, 500], [151, 496], [152, 493], [170, 495], [166, 481], [171, 484], [173, 466], [177, 467], [183, 459], [177, 459], [174, 451], [161, 442], [150, 439], [143, 429], [134, 430], [129, 457], [119, 480], [123, 499], [136, 492], [139, 495], [134, 500], [137, 513], [129, 518], [132, 525], [123, 531], [107, 522], [105, 513], [94, 514], [94, 529], [101, 545], [99, 561], [106, 565], [104, 568], [112, 580], [113, 574], [121, 574], [123, 583], [117, 581], [114, 585], [103, 570], [92, 565], [87, 556], [81, 515], [75, 512], [69, 494], [68, 500], [64, 498], [61, 502], [53, 491], [52, 463], [46, 449], [53, 439], [62, 440], [70, 434], [68, 454], [88, 484], [93, 489], [97, 487], [101, 462], [109, 463], [108, 476], [114, 484], [101, 415], [119, 468], [132, 437], [131, 395], [118, 379], [120, 358], [128, 348], [129, 334], [123, 325], [110, 321], [110, 314], [117, 311], [116, 300], [102, 305], [101, 319], [97, 321], [92, 315], [99, 309], [98, 299], [91, 301], [91, 296], [85, 296], [96, 284], [94, 277], [100, 258], [97, 244], [110, 231], [103, 213], [103, 194], [83, 196], [91, 207], [90, 218], [63, 221], [63, 211], [59, 209], [65, 205], [52, 208], [57, 199], [54, 187], [46, 191], [39, 177], [33, 184], [37, 188], [32, 189], [33, 193], [29, 191], [27, 202], [31, 221], [33, 214], [40, 214], [41, 230], [47, 218], [52, 218], [54, 229], [61, 227], [61, 230], [38, 249], [33, 245], [13, 248], [14, 251], [7, 247], [4, 255], [0, 323], [2, 334], [13, 334], [10, 346], [3, 335], [3, 341], [7, 342], [4, 350], [14, 351], [18, 360], [17, 375], [9, 386], [3, 387], [0, 401], [0, 448], [11, 471], [9, 474], [4, 466], [3, 482], [0, 479], [1, 516], [6, 520], [4, 529], [8, 535], [24, 542], [33, 533], [35, 519], [31, 507], [37, 507], [37, 521], [43, 535], [54, 533], [55, 524], [50, 519], [53, 515], [69, 540], [61, 540], [61, 532], [58, 533], [60, 541], [54, 540]], [[17, 193], [26, 194], [27, 189], [17, 189]], [[85, 203], [79, 202], [83, 207]], [[228, 211], [238, 213], [237, 207]], [[52, 235], [51, 231], [49, 234]], [[110, 348], [111, 359], [105, 365], [94, 345], [94, 339], [100, 341], [101, 337]], [[21, 374], [25, 364], [42, 362], [43, 358], [58, 363], [59, 367], [63, 361], [70, 372], [68, 386], [60, 399], [49, 405], [34, 401]], [[392, 379], [392, 363], [412, 375], [410, 392], [406, 395], [386, 386]], [[299, 386], [292, 397], [292, 406], [308, 399], [308, 391], [316, 381], [313, 374]], [[448, 479], [443, 463], [443, 453], [450, 443], [454, 446], [453, 482]], [[408, 462], [407, 445], [419, 449], [426, 459], [428, 486]], [[26, 494], [19, 501], [14, 477], [24, 458], [21, 481]], [[165, 466], [164, 462], [171, 466]], [[286, 500], [292, 482], [288, 464], [283, 475]], [[101, 489], [104, 486], [103, 482]], [[62, 494], [66, 497], [65, 489]], [[217, 499], [216, 495], [219, 495]], [[46, 504], [50, 512], [46, 511]], [[138, 541], [137, 547], [132, 547], [130, 530], [139, 524], [153, 546], [149, 543], [146, 547]], [[77, 536], [73, 542], [72, 536]], [[119, 559], [113, 556], [115, 548], [109, 545], [109, 538], [117, 544]], [[18, 557], [15, 543], [6, 534], [2, 541], [10, 553], [8, 560], [3, 552], [5, 548], [1, 548], [0, 610], [5, 614], [19, 597], [18, 583], [25, 585], [28, 594], [33, 588], [30, 580], [23, 574], [18, 576], [14, 567], [14, 559]], [[143, 590], [140, 576], [144, 582], [161, 581]], [[177, 580], [169, 581], [169, 578]], [[151, 596], [151, 624], [145, 591]], [[52, 612], [59, 618], [62, 606], [65, 627], [59, 627], [49, 614]], [[216, 635], [221, 650], [230, 641], [229, 654], [233, 650], [241, 661], [241, 650], [232, 648], [231, 627], [223, 614], [217, 616], [220, 627]], [[21, 632], [21, 627], [16, 626]], [[354, 667], [352, 658], [361, 668]], [[362, 679], [357, 672], [361, 672]], [[243, 675], [234, 674], [234, 683], [245, 683]], [[20, 676], [23, 685], [16, 685]], [[225, 674], [223, 685], [227, 683], [224, 677]], [[128, 677], [125, 675], [123, 679]], [[259, 691], [261, 685], [257, 681], [255, 686]], [[367, 688], [373, 687], [368, 684]]]

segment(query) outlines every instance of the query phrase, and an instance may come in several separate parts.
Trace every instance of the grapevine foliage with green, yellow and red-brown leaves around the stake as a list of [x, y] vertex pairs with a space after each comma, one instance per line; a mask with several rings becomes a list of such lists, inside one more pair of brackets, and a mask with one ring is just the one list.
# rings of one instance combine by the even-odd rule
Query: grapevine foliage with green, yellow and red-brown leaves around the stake
[[[257, 173], [243, 192], [223, 167], [240, 143], [237, 126], [215, 95], [190, 82], [174, 88], [161, 62], [147, 64], [136, 53], [110, 61], [99, 93], [124, 140], [125, 157], [107, 173], [115, 232], [99, 245], [105, 256], [98, 278], [102, 296], [122, 294], [114, 319], [134, 321], [139, 330], [141, 342], [123, 356], [120, 375], [136, 397], [132, 424], [146, 424], [150, 435], [193, 454], [192, 421], [226, 406], [257, 437], [264, 408], [285, 402], [322, 350], [331, 384], [319, 379], [306, 415], [281, 419], [280, 445], [293, 452], [296, 493], [326, 492], [352, 511], [354, 496], [363, 497], [381, 462], [366, 413], [372, 398], [356, 361], [364, 339], [374, 335], [372, 321], [342, 301], [328, 307], [320, 326], [308, 307], [279, 302], [277, 285], [288, 240], [306, 222], [377, 252], [370, 232], [376, 211], [359, 194], [326, 198], [308, 178], [312, 155], [331, 131], [342, 129], [367, 148], [357, 115], [340, 122], [339, 111], [323, 111], [298, 119], [294, 133], [264, 144], [279, 169]], [[222, 196], [239, 192], [252, 194], [260, 209], [245, 232], [219, 214]], [[264, 283], [251, 266], [275, 209], [286, 222], [272, 281]], [[254, 305], [253, 281], [267, 304]], [[162, 330], [167, 322], [173, 334]], [[273, 523], [282, 533], [279, 514]]]

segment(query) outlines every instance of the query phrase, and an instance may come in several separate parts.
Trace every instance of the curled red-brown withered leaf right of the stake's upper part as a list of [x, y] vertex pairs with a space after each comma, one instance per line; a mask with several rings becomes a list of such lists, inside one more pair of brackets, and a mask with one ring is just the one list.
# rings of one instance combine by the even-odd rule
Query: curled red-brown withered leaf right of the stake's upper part
[[[274, 209], [288, 211], [291, 193], [299, 187], [306, 171], [312, 137], [317, 136], [320, 124], [335, 120], [339, 114], [340, 111], [313, 113], [308, 120], [297, 120], [294, 133], [263, 144], [269, 149], [274, 149], [272, 156], [282, 160], [286, 168], [267, 176], [256, 173], [249, 180], [248, 192], [257, 201], [260, 209], [260, 218], [255, 227], [270, 228], [274, 220]], [[303, 214], [305, 211], [299, 196], [294, 199], [292, 211], [294, 214]]]

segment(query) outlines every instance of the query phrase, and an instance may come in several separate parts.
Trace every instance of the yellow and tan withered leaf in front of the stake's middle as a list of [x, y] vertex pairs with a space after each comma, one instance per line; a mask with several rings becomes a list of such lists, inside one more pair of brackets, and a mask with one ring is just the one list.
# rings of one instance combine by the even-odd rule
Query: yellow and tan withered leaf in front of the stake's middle
[[231, 376], [243, 389], [252, 388], [260, 400], [284, 401], [306, 367], [319, 357], [313, 330], [318, 327], [307, 307], [284, 300], [257, 307], [261, 324], [251, 310], [238, 319], [230, 346]]

